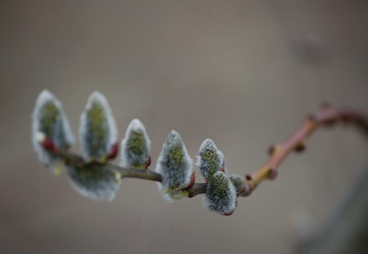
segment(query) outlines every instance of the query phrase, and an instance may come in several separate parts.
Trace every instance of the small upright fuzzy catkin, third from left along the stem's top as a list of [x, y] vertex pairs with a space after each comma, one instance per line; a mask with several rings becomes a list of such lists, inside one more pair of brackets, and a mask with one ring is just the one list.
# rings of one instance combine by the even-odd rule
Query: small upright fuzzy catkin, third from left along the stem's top
[[133, 119], [121, 141], [121, 163], [123, 168], [144, 169], [151, 150], [151, 140], [139, 119]]

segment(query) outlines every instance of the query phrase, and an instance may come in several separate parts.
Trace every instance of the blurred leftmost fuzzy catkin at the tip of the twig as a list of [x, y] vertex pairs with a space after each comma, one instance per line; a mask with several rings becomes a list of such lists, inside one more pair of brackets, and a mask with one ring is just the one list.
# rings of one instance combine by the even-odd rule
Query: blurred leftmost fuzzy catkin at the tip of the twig
[[58, 155], [53, 155], [44, 149], [40, 144], [40, 140], [38, 140], [40, 135], [49, 138], [62, 150], [67, 150], [74, 143], [69, 121], [65, 116], [61, 103], [54, 94], [46, 89], [37, 98], [32, 114], [32, 144], [39, 160], [47, 164], [50, 170], [53, 170], [56, 174], [61, 159]]

